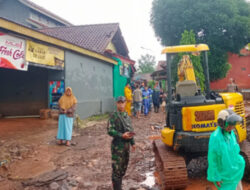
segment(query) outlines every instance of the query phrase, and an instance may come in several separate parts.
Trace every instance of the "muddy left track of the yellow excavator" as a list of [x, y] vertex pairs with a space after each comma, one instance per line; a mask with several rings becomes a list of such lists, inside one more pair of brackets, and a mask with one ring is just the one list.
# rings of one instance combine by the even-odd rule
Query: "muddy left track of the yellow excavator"
[[188, 175], [184, 158], [166, 147], [160, 140], [155, 140], [153, 146], [161, 190], [185, 189]]

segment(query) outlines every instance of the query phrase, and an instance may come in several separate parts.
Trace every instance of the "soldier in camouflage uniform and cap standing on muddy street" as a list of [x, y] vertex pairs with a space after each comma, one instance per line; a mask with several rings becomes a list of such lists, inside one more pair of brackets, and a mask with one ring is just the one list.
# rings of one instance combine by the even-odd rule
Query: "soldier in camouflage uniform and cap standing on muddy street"
[[128, 167], [130, 145], [134, 151], [135, 142], [131, 120], [125, 112], [125, 97], [119, 96], [116, 105], [117, 111], [112, 113], [109, 119], [108, 134], [113, 137], [111, 144], [113, 189], [121, 190], [122, 177]]

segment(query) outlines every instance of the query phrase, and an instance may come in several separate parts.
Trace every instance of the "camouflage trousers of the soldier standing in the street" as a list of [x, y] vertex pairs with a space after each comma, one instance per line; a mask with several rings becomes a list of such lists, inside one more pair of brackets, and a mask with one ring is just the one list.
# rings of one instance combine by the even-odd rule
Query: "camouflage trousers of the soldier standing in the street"
[[111, 145], [112, 181], [121, 180], [125, 175], [129, 162], [130, 143], [124, 142]]

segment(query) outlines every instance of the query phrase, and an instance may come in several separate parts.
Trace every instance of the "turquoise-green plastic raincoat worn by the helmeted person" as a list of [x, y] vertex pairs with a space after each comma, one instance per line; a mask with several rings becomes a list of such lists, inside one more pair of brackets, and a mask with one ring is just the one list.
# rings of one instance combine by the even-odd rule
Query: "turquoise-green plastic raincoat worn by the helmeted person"
[[245, 169], [244, 158], [233, 131], [223, 132], [218, 127], [209, 140], [208, 181], [221, 182], [220, 190], [235, 190]]

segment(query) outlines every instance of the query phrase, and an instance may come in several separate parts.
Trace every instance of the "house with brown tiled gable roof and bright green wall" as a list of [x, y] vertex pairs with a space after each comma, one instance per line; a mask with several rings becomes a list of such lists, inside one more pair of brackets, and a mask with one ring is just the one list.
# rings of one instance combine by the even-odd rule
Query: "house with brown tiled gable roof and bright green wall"
[[[104, 72], [102, 74], [104, 74], [106, 79], [100, 78], [100, 80], [105, 83], [111, 83], [111, 81], [113, 81], [113, 89], [106, 88], [109, 86], [108, 84], [102, 85], [107, 91], [99, 95], [106, 96], [112, 91], [114, 97], [124, 96], [124, 87], [127, 82], [130, 82], [136, 69], [134, 66], [135, 61], [129, 57], [129, 50], [118, 23], [44, 28], [40, 31], [47, 35], [58, 37], [72, 44], [106, 55], [117, 61], [118, 64], [113, 65], [113, 73]], [[98, 69], [101, 71], [101, 68]], [[76, 72], [77, 71], [78, 76], [82, 76], [82, 80], [85, 80], [87, 76], [81, 73], [81, 68], [78, 68]], [[92, 71], [92, 69], [90, 69], [90, 71]], [[107, 75], [109, 77], [113, 75], [113, 78], [107, 78]], [[99, 79], [93, 79], [93, 82], [89, 85], [95, 87], [95, 83], [98, 80]], [[72, 80], [70, 84], [75, 86], [78, 85], [76, 80]], [[82, 86], [82, 89], [90, 90], [86, 85]], [[95, 96], [97, 96], [98, 93], [99, 92], [95, 91]]]

